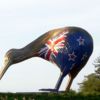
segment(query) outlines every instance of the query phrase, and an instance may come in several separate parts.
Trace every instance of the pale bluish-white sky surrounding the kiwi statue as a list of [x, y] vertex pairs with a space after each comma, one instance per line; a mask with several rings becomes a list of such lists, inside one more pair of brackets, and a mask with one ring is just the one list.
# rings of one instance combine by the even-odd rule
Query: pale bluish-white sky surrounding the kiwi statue
[[[45, 32], [59, 27], [78, 26], [94, 40], [94, 51], [71, 88], [78, 90], [84, 76], [94, 72], [94, 60], [100, 55], [100, 0], [0, 0], [0, 69], [5, 53], [22, 48]], [[60, 70], [53, 64], [31, 58], [9, 67], [0, 80], [0, 92], [37, 92], [54, 88]], [[65, 90], [68, 77], [60, 90]]]

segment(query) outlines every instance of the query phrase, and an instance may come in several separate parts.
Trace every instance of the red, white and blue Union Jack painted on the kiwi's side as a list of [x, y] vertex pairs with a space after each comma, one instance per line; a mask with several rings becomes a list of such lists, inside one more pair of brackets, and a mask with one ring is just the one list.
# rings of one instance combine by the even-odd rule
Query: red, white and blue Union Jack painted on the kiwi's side
[[40, 56], [44, 55], [46, 60], [53, 62], [52, 57], [56, 57], [58, 52], [64, 48], [66, 34], [67, 32], [63, 32], [56, 37], [49, 39], [45, 44], [45, 47], [40, 50]]

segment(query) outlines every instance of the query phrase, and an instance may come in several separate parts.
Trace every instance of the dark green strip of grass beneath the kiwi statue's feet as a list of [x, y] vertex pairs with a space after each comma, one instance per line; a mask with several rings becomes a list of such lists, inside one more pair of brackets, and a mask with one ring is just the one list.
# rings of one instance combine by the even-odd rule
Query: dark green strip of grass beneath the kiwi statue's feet
[[68, 93], [0, 93], [0, 100], [100, 100], [100, 94]]

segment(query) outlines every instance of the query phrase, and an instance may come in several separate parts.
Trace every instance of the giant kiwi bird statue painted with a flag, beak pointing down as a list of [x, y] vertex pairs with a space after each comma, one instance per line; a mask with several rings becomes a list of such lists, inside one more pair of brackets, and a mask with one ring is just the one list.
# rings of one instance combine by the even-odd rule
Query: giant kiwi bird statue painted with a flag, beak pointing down
[[93, 39], [84, 29], [79, 27], [53, 29], [23, 48], [9, 50], [4, 56], [0, 79], [12, 64], [31, 57], [40, 57], [56, 64], [60, 69], [60, 76], [55, 88], [40, 90], [58, 92], [64, 77], [68, 75], [66, 91], [69, 91], [73, 79], [85, 66], [92, 51]]

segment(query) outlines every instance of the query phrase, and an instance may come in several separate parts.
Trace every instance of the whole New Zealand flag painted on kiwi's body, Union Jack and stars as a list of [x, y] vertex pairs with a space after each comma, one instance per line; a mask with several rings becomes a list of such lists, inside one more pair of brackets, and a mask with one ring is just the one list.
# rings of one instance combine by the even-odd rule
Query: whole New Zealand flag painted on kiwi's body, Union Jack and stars
[[64, 31], [50, 38], [39, 56], [51, 61], [66, 75], [73, 67], [80, 67], [92, 53], [90, 37], [82, 31]]

